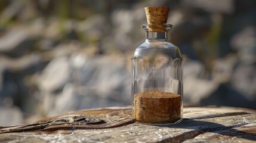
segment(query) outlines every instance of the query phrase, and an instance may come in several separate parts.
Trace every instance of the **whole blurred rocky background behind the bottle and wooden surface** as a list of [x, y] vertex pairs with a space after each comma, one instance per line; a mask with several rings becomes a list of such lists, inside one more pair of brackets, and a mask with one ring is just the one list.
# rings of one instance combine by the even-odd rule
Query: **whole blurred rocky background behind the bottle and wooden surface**
[[171, 8], [186, 105], [256, 108], [256, 1], [0, 1], [0, 126], [129, 105], [144, 7]]

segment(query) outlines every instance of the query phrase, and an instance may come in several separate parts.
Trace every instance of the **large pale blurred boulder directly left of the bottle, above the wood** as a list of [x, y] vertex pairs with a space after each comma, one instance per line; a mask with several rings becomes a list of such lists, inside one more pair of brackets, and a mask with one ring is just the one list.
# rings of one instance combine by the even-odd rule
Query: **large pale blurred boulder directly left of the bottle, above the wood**
[[[71, 74], [66, 75], [69, 80], [62, 80], [63, 90], [58, 94], [44, 95], [45, 113], [53, 116], [83, 108], [130, 104], [130, 73], [124, 61], [123, 57], [73, 54], [69, 62], [65, 61], [70, 64]], [[47, 90], [42, 90], [45, 91]]]

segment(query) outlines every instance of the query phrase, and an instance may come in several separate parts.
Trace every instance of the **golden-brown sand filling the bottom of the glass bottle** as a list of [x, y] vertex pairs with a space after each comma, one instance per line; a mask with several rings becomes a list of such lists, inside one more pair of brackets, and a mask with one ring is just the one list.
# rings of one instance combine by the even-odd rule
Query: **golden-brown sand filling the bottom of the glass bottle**
[[134, 119], [141, 123], [175, 123], [181, 119], [181, 96], [171, 92], [134, 95]]

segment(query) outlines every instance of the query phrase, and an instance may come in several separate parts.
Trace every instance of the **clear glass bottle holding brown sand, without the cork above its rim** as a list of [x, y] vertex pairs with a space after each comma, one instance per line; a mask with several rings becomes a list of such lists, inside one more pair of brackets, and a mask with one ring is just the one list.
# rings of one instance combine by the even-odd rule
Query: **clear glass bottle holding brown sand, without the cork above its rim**
[[146, 41], [131, 58], [132, 117], [146, 124], [178, 123], [183, 119], [183, 57], [167, 40], [172, 25], [141, 27], [146, 30]]

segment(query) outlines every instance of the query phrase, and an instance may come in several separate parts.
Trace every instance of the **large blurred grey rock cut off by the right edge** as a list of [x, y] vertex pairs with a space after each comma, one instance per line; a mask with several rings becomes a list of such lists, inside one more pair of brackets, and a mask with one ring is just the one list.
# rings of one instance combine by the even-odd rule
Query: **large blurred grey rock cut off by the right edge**
[[242, 29], [233, 36], [231, 45], [240, 58], [232, 74], [231, 86], [247, 100], [256, 101], [256, 27]]

